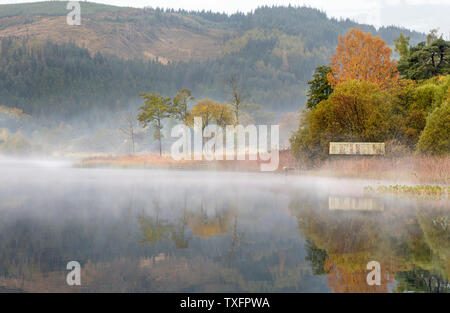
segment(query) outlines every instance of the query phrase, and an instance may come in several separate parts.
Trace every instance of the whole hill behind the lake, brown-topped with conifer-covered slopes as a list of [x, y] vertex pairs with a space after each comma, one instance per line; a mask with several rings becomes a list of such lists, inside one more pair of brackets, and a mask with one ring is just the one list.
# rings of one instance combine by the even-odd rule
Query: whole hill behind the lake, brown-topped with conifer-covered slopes
[[67, 2], [0, 5], [0, 105], [31, 115], [70, 117], [116, 109], [139, 92], [226, 100], [232, 73], [245, 81], [248, 101], [297, 110], [314, 68], [327, 64], [342, 35], [360, 27], [389, 45], [398, 27], [376, 30], [329, 19], [306, 7], [261, 7], [231, 16], [212, 12], [81, 4], [81, 26], [66, 23]]

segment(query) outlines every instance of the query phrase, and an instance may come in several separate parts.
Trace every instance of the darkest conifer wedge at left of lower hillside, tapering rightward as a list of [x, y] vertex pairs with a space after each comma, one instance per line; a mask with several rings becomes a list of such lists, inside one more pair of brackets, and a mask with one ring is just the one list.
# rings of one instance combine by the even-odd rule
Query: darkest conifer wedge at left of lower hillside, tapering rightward
[[32, 45], [8, 38], [1, 42], [0, 56], [1, 102], [33, 116], [115, 110], [142, 90], [176, 90], [190, 75], [186, 64], [91, 56], [71, 43]]

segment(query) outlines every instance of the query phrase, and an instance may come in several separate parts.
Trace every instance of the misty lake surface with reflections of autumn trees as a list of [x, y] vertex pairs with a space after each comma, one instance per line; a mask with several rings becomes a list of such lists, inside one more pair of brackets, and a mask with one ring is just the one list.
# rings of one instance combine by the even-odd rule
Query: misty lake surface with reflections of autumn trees
[[449, 291], [448, 199], [363, 192], [376, 184], [2, 162], [0, 291]]

